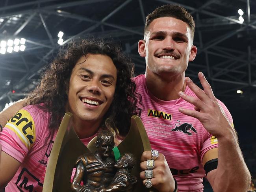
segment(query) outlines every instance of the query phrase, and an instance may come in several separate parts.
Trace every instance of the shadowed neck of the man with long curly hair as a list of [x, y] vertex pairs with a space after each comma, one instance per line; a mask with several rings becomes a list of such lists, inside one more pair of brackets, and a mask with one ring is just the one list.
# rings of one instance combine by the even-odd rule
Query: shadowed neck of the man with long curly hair
[[99, 122], [82, 121], [73, 116], [73, 127], [79, 138], [88, 138], [94, 135], [100, 126]]

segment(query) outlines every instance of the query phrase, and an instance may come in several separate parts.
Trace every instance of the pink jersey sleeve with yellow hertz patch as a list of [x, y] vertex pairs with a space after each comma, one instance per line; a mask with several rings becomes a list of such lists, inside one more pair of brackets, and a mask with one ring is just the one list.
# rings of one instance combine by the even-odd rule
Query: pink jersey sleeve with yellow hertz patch
[[2, 151], [23, 162], [35, 143], [35, 122], [25, 109], [18, 111], [0, 133]]

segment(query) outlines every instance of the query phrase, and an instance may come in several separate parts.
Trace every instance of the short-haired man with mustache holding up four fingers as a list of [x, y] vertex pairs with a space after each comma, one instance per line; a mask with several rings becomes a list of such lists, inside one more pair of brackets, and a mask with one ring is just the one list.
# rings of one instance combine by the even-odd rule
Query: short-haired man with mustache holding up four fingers
[[[144, 104], [140, 117], [152, 148], [165, 156], [178, 191], [202, 192], [206, 175], [214, 192], [246, 192], [250, 173], [228, 109], [215, 98], [202, 72], [198, 78], [203, 90], [185, 76], [197, 54], [194, 31], [193, 17], [180, 6], [158, 7], [147, 16], [144, 39], [138, 42], [146, 73], [134, 78]], [[143, 154], [143, 170], [150, 158], [150, 152]], [[153, 178], [143, 182], [168, 191], [162, 183], [169, 179], [174, 188], [173, 177], [159, 176], [167, 171], [155, 161]]]

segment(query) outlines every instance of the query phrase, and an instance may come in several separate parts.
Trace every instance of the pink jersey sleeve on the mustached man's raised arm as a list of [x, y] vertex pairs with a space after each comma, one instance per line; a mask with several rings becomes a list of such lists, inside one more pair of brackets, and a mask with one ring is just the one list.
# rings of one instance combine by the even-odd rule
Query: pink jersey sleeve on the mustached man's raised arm
[[[221, 109], [223, 110], [224, 114], [226, 115], [226, 118], [230, 122], [230, 125], [234, 128], [233, 119], [232, 119], [232, 116], [231, 116], [230, 112], [228, 111], [227, 107], [220, 100], [218, 100], [218, 102], [219, 102], [219, 105], [221, 106]], [[201, 153], [200, 153], [200, 161], [201, 162], [204, 157], [204, 154], [208, 150], [218, 147], [218, 139], [215, 136], [208, 133], [206, 131], [206, 129], [204, 129], [204, 127], [202, 127], [202, 129], [203, 129], [204, 143], [202, 145]]]

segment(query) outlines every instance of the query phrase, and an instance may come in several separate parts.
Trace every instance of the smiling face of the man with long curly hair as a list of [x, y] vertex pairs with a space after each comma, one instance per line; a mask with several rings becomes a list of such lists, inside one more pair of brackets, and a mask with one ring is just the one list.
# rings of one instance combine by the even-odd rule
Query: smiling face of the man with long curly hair
[[115, 93], [117, 68], [107, 55], [82, 56], [69, 81], [69, 110], [74, 120], [100, 124]]

